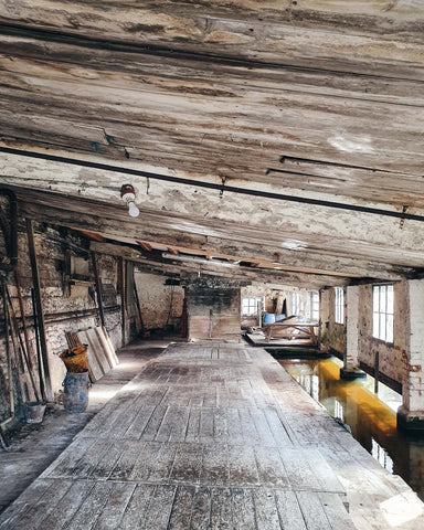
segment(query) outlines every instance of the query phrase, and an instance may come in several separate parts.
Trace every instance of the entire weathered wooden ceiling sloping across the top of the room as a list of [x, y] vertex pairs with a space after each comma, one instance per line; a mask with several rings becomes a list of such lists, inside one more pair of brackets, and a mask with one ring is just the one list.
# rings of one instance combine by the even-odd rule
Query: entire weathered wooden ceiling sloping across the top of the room
[[0, 184], [22, 215], [172, 274], [421, 274], [420, 0], [22, 0], [0, 24]]

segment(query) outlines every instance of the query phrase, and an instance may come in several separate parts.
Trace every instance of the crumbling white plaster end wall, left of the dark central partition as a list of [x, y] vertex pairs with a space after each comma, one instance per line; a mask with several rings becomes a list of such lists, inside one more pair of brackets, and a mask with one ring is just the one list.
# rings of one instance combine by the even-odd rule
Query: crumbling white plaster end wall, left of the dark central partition
[[179, 285], [165, 285], [167, 277], [144, 272], [135, 273], [145, 329], [179, 329], [184, 290]]

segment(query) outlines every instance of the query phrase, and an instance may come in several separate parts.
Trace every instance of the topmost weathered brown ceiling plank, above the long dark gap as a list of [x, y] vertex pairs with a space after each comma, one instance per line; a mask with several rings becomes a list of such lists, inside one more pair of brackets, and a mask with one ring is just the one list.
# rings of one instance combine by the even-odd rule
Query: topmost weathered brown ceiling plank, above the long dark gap
[[[327, 2], [324, 7], [322, 1], [309, 1], [306, 8], [304, 2], [294, 6], [289, 0], [272, 3], [197, 2], [193, 9], [191, 2], [179, 1], [82, 1], [67, 2], [63, 9], [53, 1], [21, 1], [14, 9], [14, 4], [3, 2], [0, 21], [3, 26], [9, 23], [11, 29], [18, 25], [21, 31], [25, 26], [50, 31], [51, 39], [67, 34], [102, 40], [104, 45], [107, 41], [120, 41], [151, 49], [189, 47], [200, 54], [326, 66], [330, 42], [333, 70], [368, 70], [369, 62], [378, 59], [375, 70], [390, 72], [388, 56], [402, 61], [404, 73], [418, 75], [418, 66], [414, 64], [413, 50], [413, 44], [422, 42], [421, 6], [396, 2], [388, 9], [388, 2], [380, 0], [379, 4], [372, 2], [370, 10], [370, 2]], [[394, 36], [404, 46], [399, 46]]]

